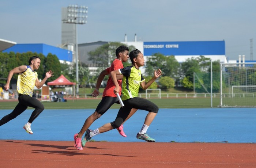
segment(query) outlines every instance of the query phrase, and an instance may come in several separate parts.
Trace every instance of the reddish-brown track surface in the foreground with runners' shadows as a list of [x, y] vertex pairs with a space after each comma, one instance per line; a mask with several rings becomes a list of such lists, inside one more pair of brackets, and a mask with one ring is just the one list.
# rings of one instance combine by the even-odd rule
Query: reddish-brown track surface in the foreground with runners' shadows
[[256, 144], [0, 141], [0, 167], [236, 168], [256, 167]]

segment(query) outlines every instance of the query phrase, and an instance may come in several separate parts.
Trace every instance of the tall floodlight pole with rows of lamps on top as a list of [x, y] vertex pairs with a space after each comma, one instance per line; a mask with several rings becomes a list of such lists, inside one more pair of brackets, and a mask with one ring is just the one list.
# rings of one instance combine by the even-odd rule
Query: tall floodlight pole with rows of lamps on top
[[87, 9], [86, 6], [69, 5], [67, 7], [67, 17], [63, 19], [63, 23], [75, 24], [76, 31], [76, 96], [79, 92], [79, 79], [78, 79], [78, 35], [77, 35], [77, 24], [87, 23]]

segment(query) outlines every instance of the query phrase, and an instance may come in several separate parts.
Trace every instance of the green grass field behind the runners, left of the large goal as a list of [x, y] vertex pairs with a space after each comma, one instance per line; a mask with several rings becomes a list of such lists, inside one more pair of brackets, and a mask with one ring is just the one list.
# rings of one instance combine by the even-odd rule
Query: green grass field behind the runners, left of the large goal
[[[159, 108], [210, 108], [210, 98], [172, 98], [172, 99], [148, 99], [157, 104]], [[95, 109], [101, 99], [68, 100], [67, 102], [42, 102], [45, 109]], [[1, 102], [0, 109], [14, 109], [18, 104], [15, 102]], [[219, 105], [219, 98], [212, 99], [212, 107]], [[30, 108], [30, 107], [29, 107]], [[28, 108], [28, 109], [29, 109]], [[119, 104], [114, 104], [112, 109], [120, 108]]]

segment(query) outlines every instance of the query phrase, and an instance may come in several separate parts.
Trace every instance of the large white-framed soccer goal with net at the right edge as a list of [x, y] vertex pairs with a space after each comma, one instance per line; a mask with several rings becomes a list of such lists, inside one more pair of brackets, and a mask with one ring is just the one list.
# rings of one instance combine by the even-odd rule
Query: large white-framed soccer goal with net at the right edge
[[256, 107], [256, 64], [221, 63], [220, 107]]

